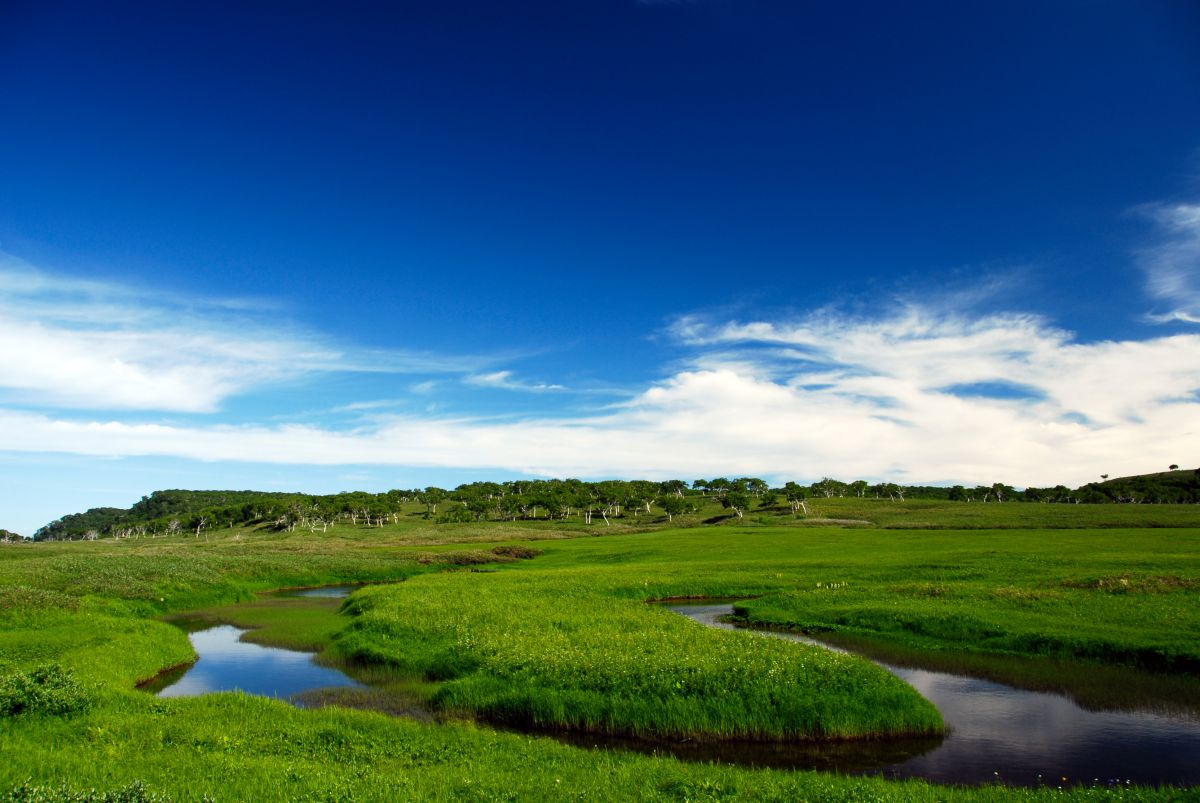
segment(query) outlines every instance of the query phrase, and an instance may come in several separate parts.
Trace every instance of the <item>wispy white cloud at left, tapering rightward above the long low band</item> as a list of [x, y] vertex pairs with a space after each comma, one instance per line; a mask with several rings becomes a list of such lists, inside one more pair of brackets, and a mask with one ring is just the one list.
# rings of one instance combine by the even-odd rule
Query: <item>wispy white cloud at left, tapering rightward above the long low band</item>
[[263, 312], [250, 300], [148, 293], [0, 258], [0, 389], [61, 407], [200, 413], [234, 394], [313, 373], [466, 372], [484, 364], [338, 348], [283, 323], [260, 323]]

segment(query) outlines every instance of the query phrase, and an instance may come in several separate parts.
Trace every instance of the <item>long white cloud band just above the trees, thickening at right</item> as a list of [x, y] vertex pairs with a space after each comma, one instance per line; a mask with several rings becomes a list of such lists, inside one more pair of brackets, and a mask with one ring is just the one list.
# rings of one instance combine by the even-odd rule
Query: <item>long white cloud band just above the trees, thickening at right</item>
[[[682, 371], [602, 414], [394, 417], [371, 427], [168, 427], [0, 413], [0, 449], [505, 469], [545, 475], [1080, 484], [1200, 451], [1200, 336], [1081, 343], [1028, 316], [682, 320], [737, 370]], [[769, 370], [756, 371], [766, 347]], [[739, 350], [740, 349], [740, 350]], [[780, 378], [791, 355], [791, 376]], [[799, 359], [797, 359], [799, 358]], [[1013, 383], [1019, 398], [947, 386]]]

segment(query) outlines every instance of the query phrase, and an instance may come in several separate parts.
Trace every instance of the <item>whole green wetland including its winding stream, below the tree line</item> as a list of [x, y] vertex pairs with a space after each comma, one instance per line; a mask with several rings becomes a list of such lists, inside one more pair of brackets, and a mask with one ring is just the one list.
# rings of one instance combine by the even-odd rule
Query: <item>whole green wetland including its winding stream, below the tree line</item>
[[[79, 705], [8, 715], [7, 777], [173, 799], [1176, 799], [1196, 784], [1198, 528], [421, 527], [8, 552], [5, 688], [54, 661]], [[510, 553], [526, 559], [487, 563]], [[667, 598], [744, 601], [691, 609], [718, 631], [646, 605]], [[883, 666], [718, 622], [731, 612]], [[260, 671], [269, 689], [136, 689], [197, 654], [193, 671], [215, 667], [208, 639], [296, 652]], [[278, 682], [293, 666], [343, 675], [301, 691]], [[230, 687], [263, 696], [206, 693]]]

